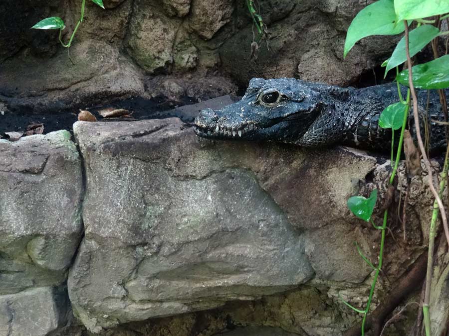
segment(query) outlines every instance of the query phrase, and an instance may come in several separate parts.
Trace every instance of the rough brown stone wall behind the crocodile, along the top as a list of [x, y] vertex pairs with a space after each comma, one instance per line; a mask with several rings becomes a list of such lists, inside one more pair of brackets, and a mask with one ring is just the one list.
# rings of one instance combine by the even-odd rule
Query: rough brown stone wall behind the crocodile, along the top
[[251, 60], [252, 20], [244, 0], [86, 2], [70, 49], [57, 31], [30, 27], [60, 16], [67, 41], [80, 0], [0, 4], [0, 103], [56, 112], [108, 100], [163, 95], [201, 100], [235, 94], [252, 77], [296, 77], [350, 85], [382, 63], [394, 37], [365, 39], [343, 60], [347, 27], [371, 1], [259, 0], [269, 38]]

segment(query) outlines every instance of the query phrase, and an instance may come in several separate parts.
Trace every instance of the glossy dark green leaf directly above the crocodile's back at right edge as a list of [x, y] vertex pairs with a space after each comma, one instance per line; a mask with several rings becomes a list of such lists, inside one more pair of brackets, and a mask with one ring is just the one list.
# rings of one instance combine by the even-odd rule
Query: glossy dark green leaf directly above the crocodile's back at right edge
[[[412, 68], [412, 77], [413, 85], [417, 89], [449, 88], [449, 55], [415, 65]], [[401, 71], [396, 80], [402, 85], [409, 86], [409, 70]]]

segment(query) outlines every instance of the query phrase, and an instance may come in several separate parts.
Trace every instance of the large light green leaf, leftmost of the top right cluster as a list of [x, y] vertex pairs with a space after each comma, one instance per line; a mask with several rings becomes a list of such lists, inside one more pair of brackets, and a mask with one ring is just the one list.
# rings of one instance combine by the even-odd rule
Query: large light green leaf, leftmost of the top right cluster
[[393, 0], [379, 0], [363, 8], [354, 17], [346, 34], [343, 57], [357, 41], [371, 35], [396, 35], [404, 31], [403, 24], [397, 24]]

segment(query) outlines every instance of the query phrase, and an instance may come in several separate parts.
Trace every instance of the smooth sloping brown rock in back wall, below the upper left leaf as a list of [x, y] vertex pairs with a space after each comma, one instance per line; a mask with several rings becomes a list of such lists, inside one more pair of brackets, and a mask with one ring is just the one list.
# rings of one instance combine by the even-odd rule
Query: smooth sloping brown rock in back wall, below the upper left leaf
[[109, 44], [79, 42], [70, 57], [75, 65], [65, 49], [51, 59], [22, 53], [5, 61], [0, 65], [0, 100], [10, 110], [44, 112], [143, 95], [139, 72]]

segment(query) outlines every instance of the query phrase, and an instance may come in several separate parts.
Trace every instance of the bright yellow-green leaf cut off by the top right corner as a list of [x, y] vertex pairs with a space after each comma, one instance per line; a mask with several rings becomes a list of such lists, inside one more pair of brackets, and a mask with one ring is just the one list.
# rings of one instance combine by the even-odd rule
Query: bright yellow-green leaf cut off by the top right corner
[[399, 20], [412, 20], [449, 12], [449, 0], [394, 0]]

